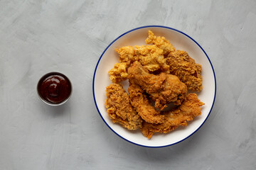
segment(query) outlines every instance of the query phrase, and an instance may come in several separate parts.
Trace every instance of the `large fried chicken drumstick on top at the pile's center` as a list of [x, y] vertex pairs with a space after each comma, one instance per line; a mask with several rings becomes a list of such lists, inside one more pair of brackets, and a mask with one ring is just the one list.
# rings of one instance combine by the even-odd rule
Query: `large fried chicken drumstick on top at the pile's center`
[[138, 84], [155, 101], [155, 107], [163, 110], [166, 104], [174, 102], [180, 105], [186, 97], [187, 87], [178, 77], [161, 73], [149, 74], [139, 62], [134, 62], [128, 69], [128, 79], [132, 84]]

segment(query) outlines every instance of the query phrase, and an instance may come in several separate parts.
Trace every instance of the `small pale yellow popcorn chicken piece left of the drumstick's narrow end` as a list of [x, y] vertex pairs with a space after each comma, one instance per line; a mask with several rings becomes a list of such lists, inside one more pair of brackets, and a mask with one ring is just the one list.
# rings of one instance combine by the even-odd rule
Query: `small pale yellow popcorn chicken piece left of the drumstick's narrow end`
[[127, 64], [125, 62], [114, 64], [114, 68], [108, 72], [113, 83], [119, 83], [128, 78]]

